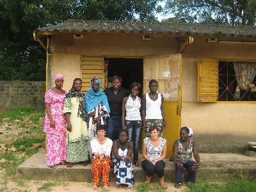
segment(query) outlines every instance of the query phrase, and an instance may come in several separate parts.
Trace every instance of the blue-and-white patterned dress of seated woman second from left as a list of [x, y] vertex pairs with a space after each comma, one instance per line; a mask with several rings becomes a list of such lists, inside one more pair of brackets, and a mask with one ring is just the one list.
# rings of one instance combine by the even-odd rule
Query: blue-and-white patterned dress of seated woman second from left
[[122, 159], [113, 159], [114, 173], [116, 174], [116, 185], [126, 184], [128, 188], [131, 188], [134, 184], [134, 176], [132, 163], [125, 163], [124, 161], [124, 158], [127, 156], [127, 151], [127, 148], [125, 148], [125, 150], [122, 150], [122, 148], [118, 148], [118, 156], [122, 157]]

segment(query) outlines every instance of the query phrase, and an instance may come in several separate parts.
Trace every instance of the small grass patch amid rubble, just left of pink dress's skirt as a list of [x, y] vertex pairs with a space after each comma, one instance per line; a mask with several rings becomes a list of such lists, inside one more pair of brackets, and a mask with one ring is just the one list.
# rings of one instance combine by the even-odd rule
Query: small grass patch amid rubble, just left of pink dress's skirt
[[34, 143], [43, 143], [44, 139], [28, 137], [28, 138], [21, 138], [12, 143], [17, 150], [26, 150], [26, 148], [32, 147]]

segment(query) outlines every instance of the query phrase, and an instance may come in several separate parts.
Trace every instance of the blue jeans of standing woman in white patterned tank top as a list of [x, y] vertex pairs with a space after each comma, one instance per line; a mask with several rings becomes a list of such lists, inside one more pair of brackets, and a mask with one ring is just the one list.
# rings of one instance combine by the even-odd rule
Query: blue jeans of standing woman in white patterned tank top
[[133, 161], [138, 161], [140, 147], [141, 120], [126, 121], [128, 139], [133, 142]]

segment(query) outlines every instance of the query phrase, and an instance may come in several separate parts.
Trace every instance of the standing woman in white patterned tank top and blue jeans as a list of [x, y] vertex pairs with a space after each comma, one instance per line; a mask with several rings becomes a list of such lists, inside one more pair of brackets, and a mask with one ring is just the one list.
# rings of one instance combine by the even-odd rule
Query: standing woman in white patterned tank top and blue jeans
[[140, 83], [131, 84], [131, 95], [124, 97], [122, 104], [122, 129], [127, 130], [129, 141], [133, 142], [133, 164], [140, 166], [138, 163], [140, 132], [141, 132], [141, 100], [138, 97]]

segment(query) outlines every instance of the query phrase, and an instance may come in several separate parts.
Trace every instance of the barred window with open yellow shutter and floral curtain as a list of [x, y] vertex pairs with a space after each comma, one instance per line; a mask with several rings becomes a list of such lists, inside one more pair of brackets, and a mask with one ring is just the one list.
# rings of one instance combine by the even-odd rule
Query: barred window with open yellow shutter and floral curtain
[[[249, 68], [250, 73], [245, 76], [244, 69]], [[256, 91], [255, 74], [256, 63], [198, 58], [198, 101], [255, 101], [256, 92], [253, 92]], [[239, 83], [237, 83], [237, 78]], [[244, 79], [250, 79], [252, 82], [249, 83], [250, 88], [241, 88], [246, 84], [247, 80]]]

